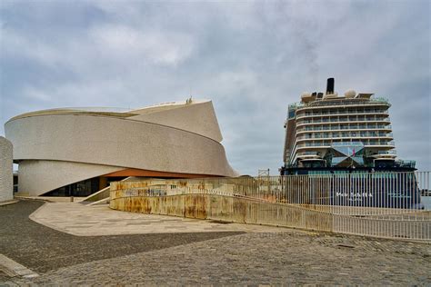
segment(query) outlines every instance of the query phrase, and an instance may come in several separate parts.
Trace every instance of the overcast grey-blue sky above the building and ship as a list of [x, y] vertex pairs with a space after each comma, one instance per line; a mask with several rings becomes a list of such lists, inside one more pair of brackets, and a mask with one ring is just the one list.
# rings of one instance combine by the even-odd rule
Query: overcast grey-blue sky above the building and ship
[[282, 165], [287, 105], [386, 97], [398, 156], [431, 170], [429, 1], [0, 1], [0, 134], [16, 114], [211, 99], [231, 165]]

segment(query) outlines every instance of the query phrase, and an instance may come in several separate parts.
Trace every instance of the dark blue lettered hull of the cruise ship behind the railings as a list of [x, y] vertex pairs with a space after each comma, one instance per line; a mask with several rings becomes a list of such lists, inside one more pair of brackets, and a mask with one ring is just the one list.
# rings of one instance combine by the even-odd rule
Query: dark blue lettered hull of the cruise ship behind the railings
[[[292, 203], [423, 209], [414, 171], [414, 168], [284, 168], [281, 173], [307, 181], [305, 189], [287, 183], [289, 179], [283, 184], [286, 194], [292, 195]], [[306, 197], [300, 193], [306, 193]]]

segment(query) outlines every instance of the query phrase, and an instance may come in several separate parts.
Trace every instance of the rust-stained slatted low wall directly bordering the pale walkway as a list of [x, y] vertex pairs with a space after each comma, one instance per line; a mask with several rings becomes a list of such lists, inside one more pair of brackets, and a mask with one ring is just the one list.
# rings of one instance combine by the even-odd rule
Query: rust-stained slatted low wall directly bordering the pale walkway
[[333, 230], [332, 214], [287, 204], [199, 193], [125, 197], [122, 197], [118, 191], [115, 194], [117, 196], [111, 197], [109, 206], [119, 211], [286, 226], [326, 232]]

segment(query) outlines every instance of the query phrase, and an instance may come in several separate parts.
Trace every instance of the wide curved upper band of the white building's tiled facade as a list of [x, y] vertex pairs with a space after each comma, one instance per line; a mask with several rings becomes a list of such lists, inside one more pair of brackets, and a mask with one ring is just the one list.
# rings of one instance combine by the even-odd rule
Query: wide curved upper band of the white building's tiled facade
[[87, 115], [43, 115], [5, 124], [15, 160], [55, 160], [172, 173], [233, 176], [225, 149], [157, 124]]

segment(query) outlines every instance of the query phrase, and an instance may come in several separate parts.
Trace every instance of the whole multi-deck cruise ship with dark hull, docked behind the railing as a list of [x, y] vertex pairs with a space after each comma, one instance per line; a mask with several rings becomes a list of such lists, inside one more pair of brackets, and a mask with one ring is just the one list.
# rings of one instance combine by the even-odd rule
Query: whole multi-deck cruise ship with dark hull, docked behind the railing
[[396, 158], [391, 105], [369, 93], [338, 95], [334, 84], [288, 106], [281, 175], [306, 176], [307, 193], [327, 194], [322, 204], [423, 208], [415, 162]]

